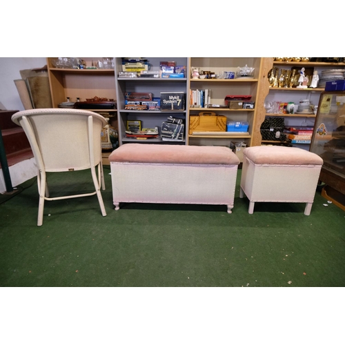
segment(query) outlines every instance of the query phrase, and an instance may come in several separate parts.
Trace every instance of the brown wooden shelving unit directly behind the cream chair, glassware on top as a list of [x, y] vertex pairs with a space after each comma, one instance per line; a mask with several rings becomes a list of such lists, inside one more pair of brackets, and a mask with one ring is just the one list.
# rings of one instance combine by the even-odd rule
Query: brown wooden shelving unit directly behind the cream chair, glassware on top
[[[75, 69], [56, 68], [53, 61], [56, 58], [48, 57], [48, 76], [52, 106], [58, 108], [59, 103], [66, 102], [67, 98], [75, 102], [92, 99], [94, 97], [116, 99], [115, 72], [113, 69]], [[81, 57], [86, 66], [91, 66], [101, 60], [100, 57]], [[97, 111], [97, 109], [90, 109]], [[102, 109], [99, 109], [100, 111]]]

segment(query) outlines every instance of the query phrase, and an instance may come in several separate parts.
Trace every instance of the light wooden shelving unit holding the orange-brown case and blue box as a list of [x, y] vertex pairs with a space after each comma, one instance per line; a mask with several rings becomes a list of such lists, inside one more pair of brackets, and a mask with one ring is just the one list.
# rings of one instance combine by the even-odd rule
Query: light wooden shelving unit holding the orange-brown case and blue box
[[[269, 61], [268, 61], [269, 63]], [[217, 115], [225, 116], [227, 121], [248, 122], [248, 134], [239, 132], [230, 135], [226, 132], [221, 135], [188, 134], [189, 145], [221, 145], [229, 146], [230, 141], [243, 141], [247, 146], [261, 144], [260, 124], [264, 119], [264, 99], [268, 93], [267, 72], [270, 67], [266, 59], [261, 57], [190, 57], [188, 69], [214, 72], [237, 72], [238, 67], [253, 67], [252, 78], [235, 79], [193, 79], [188, 78], [188, 90], [210, 90], [210, 103], [224, 105], [227, 95], [250, 95], [250, 101], [255, 102], [253, 109], [230, 109], [230, 108], [195, 108], [193, 104], [188, 107], [188, 115], [198, 115], [199, 112], [212, 111]]]

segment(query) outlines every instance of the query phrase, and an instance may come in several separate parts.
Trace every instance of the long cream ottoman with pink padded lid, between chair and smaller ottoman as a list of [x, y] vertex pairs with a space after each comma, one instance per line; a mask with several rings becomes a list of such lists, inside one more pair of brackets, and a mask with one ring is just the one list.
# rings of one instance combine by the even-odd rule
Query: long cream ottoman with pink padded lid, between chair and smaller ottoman
[[234, 206], [239, 159], [230, 148], [124, 144], [109, 156], [112, 199]]

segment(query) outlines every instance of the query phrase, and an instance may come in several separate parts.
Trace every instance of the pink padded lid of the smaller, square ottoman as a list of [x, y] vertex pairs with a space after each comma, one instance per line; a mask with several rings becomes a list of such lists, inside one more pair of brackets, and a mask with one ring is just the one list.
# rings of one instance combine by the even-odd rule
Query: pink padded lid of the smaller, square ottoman
[[322, 165], [324, 161], [313, 152], [286, 146], [252, 146], [243, 154], [255, 164]]

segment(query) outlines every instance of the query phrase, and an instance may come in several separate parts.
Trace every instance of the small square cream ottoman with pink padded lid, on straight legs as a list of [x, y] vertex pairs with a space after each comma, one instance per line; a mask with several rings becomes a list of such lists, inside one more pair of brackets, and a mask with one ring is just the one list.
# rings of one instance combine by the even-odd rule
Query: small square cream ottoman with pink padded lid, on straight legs
[[248, 213], [257, 202], [305, 202], [311, 206], [324, 161], [313, 152], [285, 146], [245, 148], [239, 197], [248, 197]]

